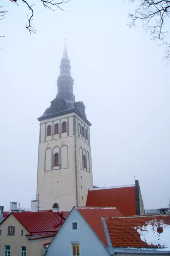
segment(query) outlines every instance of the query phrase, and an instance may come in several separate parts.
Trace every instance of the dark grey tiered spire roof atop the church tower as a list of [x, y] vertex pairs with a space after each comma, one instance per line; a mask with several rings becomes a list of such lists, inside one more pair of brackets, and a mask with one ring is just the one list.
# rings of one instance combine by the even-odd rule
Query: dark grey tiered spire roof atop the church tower
[[[70, 68], [69, 65], [70, 61], [67, 54], [67, 48], [66, 48], [66, 41], [64, 44], [64, 51], [63, 51], [63, 58], [61, 59], [61, 70], [62, 67], [68, 67], [67, 69], [64, 69], [60, 72], [60, 75], [58, 76], [57, 85], [58, 85], [58, 93], [56, 95], [56, 98], [52, 100], [51, 106], [46, 109], [46, 111], [43, 113], [42, 116], [38, 118], [38, 120], [43, 120], [47, 118], [51, 118], [53, 116], [59, 116], [64, 113], [71, 113], [73, 110], [77, 112], [82, 119], [84, 119], [89, 125], [91, 123], [87, 121], [86, 114], [85, 114], [85, 106], [83, 102], [75, 102], [75, 96], [72, 93], [72, 90], [62, 90], [60, 91], [59, 87], [61, 86], [62, 81], [67, 82], [69, 84], [69, 87], [73, 87], [74, 80], [72, 79], [72, 76], [70, 74]], [[66, 71], [67, 70], [67, 71]], [[69, 71], [68, 71], [69, 70]], [[64, 112], [64, 113], [62, 113]]]

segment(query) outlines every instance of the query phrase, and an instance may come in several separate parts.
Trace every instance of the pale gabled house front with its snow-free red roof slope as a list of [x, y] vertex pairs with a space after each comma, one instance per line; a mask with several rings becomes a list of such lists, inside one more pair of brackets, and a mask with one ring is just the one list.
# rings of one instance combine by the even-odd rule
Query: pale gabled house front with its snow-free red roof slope
[[44, 256], [109, 256], [109, 250], [85, 220], [88, 216], [93, 219], [94, 229], [105, 236], [101, 215], [122, 216], [115, 207], [73, 207]]

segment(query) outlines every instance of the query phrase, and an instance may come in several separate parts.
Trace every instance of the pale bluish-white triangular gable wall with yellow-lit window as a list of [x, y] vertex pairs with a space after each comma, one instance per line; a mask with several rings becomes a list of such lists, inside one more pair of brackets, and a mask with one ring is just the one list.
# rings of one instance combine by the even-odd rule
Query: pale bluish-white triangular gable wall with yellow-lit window
[[[77, 222], [78, 229], [72, 229], [72, 222]], [[64, 222], [62, 229], [53, 240], [46, 256], [72, 256], [71, 243], [80, 243], [82, 256], [109, 256], [109, 252], [86, 224], [81, 215], [74, 209]]]

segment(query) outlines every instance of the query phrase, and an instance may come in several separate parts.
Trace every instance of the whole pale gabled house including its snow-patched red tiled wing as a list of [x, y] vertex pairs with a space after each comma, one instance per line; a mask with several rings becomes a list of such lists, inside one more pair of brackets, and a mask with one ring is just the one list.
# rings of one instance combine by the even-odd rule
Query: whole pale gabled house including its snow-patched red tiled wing
[[141, 254], [170, 255], [170, 215], [124, 217], [115, 207], [73, 207], [44, 256]]

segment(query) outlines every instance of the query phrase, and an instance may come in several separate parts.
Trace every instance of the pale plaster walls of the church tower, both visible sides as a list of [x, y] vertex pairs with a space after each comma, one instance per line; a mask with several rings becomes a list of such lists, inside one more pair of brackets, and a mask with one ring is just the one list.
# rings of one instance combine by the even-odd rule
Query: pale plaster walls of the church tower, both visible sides
[[[73, 120], [75, 118], [76, 132], [77, 136], [74, 136]], [[66, 133], [54, 135], [55, 123], [59, 123], [61, 129], [62, 123], [66, 122], [66, 127], [69, 127], [69, 131]], [[41, 124], [41, 134], [40, 137], [45, 136], [45, 126], [49, 124], [52, 125], [52, 138], [49, 141], [44, 141], [39, 143], [39, 154], [38, 154], [38, 174], [37, 174], [37, 195], [39, 195], [39, 206], [40, 209], [52, 209], [52, 205], [57, 203], [59, 205], [59, 210], [70, 211], [73, 206], [76, 205], [76, 168], [77, 167], [77, 184], [78, 184], [78, 205], [85, 206], [88, 189], [92, 188], [92, 165], [91, 165], [91, 150], [90, 146], [83, 142], [81, 138], [78, 138], [78, 122], [84, 123], [84, 125], [89, 128], [89, 126], [75, 113], [69, 113], [62, 116], [53, 117], [50, 119], [40, 121]], [[46, 124], [46, 125], [45, 125]], [[43, 129], [42, 129], [43, 127]], [[69, 134], [69, 136], [68, 136]], [[58, 136], [56, 139], [55, 136]], [[76, 140], [75, 140], [76, 138]], [[80, 152], [81, 147], [85, 151], [89, 151], [89, 162], [90, 162], [90, 172], [81, 170], [80, 168]], [[66, 147], [68, 146], [68, 153]], [[76, 163], [75, 163], [75, 145], [76, 145]], [[56, 151], [56, 146], [60, 148], [60, 151]], [[53, 165], [53, 160], [48, 160], [48, 170], [44, 171], [45, 163], [45, 151], [46, 148], [54, 149], [54, 152], [59, 154], [59, 164], [60, 166], [52, 167], [50, 169], [50, 161]], [[62, 149], [63, 148], [63, 149]], [[63, 154], [62, 152], [63, 151]], [[68, 160], [66, 155], [68, 155]], [[48, 157], [50, 158], [50, 156]], [[47, 160], [47, 159], [46, 159]], [[67, 168], [68, 166], [68, 168]], [[61, 169], [62, 168], [62, 169]], [[82, 188], [81, 188], [82, 187]], [[83, 198], [83, 199], [82, 199]]]

